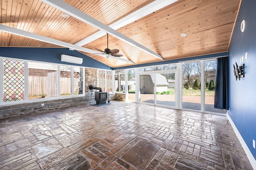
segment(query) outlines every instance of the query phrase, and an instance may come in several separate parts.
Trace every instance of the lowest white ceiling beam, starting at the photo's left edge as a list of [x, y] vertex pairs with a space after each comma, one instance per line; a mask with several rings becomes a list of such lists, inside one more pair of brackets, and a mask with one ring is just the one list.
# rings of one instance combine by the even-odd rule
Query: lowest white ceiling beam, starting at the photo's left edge
[[[78, 45], [74, 45], [74, 44], [71, 44], [71, 43], [62, 42], [62, 41], [55, 40], [55, 39], [52, 39], [52, 38], [49, 38], [49, 37], [40, 36], [38, 34], [34, 34], [34, 33], [31, 33], [31, 32], [26, 32], [26, 31], [19, 30], [17, 28], [12, 28], [12, 27], [9, 27], [9, 26], [5, 26], [5, 25], [2, 25], [2, 24], [0, 24], [0, 30], [3, 31], [3, 32], [8, 32], [10, 34], [15, 34], [15, 35], [18, 35], [18, 36], [31, 38], [31, 39], [42, 41], [42, 42], [47, 42], [47, 43], [51, 43], [51, 44], [55, 44], [55, 45], [60, 45], [62, 47], [67, 47], [67, 48], [75, 49], [75, 50], [78, 50], [78, 51], [84, 51], [86, 53], [92, 53], [92, 54], [98, 53], [98, 51], [94, 51], [92, 49], [80, 47]], [[103, 54], [97, 54], [97, 55], [100, 55], [100, 56], [104, 57]], [[111, 58], [134, 64], [134, 62], [132, 62], [128, 59], [124, 59], [124, 58], [121, 59], [119, 57], [111, 57]]]

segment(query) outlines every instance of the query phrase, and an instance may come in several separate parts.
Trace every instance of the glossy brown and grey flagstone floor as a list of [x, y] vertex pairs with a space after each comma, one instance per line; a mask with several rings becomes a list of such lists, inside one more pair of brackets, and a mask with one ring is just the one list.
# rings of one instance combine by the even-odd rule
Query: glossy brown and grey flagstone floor
[[0, 169], [252, 170], [220, 115], [111, 101], [0, 120]]

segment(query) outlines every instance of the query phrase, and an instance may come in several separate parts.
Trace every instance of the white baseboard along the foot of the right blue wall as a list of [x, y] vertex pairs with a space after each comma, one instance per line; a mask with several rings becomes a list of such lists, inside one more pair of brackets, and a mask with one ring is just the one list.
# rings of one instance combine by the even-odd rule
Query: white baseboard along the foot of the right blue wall
[[254, 170], [256, 170], [256, 160], [255, 160], [254, 156], [252, 155], [251, 151], [249, 150], [248, 146], [244, 142], [244, 139], [242, 138], [241, 134], [239, 133], [238, 129], [236, 128], [236, 125], [234, 124], [234, 122], [232, 121], [232, 119], [228, 115], [228, 113], [227, 113], [227, 118], [228, 118], [228, 121], [230, 121], [230, 124], [231, 124], [232, 128], [234, 129], [234, 132], [236, 133], [238, 140], [242, 144], [242, 147], [244, 148], [244, 151], [245, 151], [250, 163], [252, 164], [252, 168]]

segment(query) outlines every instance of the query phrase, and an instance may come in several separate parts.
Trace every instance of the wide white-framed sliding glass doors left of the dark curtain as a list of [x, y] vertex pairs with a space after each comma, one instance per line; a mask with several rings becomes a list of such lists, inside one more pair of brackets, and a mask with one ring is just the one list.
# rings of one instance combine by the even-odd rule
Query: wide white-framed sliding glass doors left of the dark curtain
[[216, 59], [177, 63], [169, 70], [163, 68], [139, 69], [139, 102], [203, 113], [226, 113], [214, 108]]

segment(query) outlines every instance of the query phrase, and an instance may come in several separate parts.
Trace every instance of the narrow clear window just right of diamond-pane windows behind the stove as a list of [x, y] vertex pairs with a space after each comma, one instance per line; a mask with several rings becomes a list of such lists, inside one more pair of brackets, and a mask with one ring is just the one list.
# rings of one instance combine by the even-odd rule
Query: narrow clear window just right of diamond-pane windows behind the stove
[[115, 91], [117, 93], [125, 93], [125, 75], [124, 70], [115, 71]]

